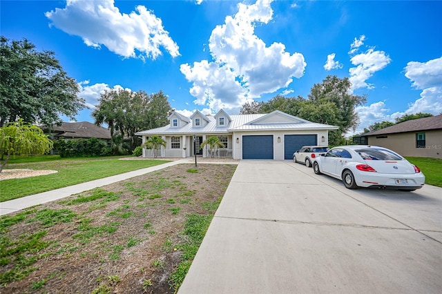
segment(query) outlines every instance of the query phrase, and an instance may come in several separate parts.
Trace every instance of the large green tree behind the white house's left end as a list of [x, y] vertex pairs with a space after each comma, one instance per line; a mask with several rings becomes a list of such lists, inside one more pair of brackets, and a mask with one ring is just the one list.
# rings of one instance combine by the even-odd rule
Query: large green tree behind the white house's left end
[[133, 149], [139, 143], [135, 133], [166, 125], [171, 110], [162, 91], [147, 95], [120, 89], [104, 92], [92, 115], [97, 126], [108, 124], [111, 136], [128, 137]]

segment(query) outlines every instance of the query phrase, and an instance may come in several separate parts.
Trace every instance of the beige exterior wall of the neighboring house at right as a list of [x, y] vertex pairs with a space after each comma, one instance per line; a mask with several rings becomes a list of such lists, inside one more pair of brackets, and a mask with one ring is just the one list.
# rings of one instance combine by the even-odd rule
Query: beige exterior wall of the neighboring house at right
[[[416, 133], [425, 133], [425, 148], [416, 148]], [[387, 134], [386, 138], [368, 137], [368, 144], [396, 151], [403, 156], [442, 158], [442, 130]]]

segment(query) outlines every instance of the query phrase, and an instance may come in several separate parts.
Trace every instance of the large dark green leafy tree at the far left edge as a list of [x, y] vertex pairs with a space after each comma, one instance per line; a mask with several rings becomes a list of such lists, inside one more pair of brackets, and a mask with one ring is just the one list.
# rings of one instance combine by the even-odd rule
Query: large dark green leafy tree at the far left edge
[[0, 126], [17, 119], [51, 126], [61, 123], [60, 115], [74, 119], [86, 107], [54, 52], [39, 52], [26, 39], [2, 36], [0, 43]]

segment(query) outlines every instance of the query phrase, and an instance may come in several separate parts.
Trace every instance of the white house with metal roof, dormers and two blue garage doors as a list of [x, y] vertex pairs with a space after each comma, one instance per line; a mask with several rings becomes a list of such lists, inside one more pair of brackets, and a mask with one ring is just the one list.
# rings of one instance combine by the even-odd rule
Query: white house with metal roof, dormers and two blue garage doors
[[[285, 112], [269, 114], [228, 115], [220, 110], [214, 117], [196, 110], [191, 117], [178, 112], [169, 116], [170, 124], [135, 133], [148, 137], [160, 136], [166, 141], [160, 157], [211, 157], [209, 146], [200, 148], [204, 140], [216, 136], [224, 148], [218, 148], [214, 157], [233, 159], [292, 159], [293, 153], [305, 145], [328, 145], [328, 131], [337, 126], [316, 124]], [[195, 142], [194, 142], [195, 138]], [[143, 148], [143, 157], [153, 157], [153, 150]]]

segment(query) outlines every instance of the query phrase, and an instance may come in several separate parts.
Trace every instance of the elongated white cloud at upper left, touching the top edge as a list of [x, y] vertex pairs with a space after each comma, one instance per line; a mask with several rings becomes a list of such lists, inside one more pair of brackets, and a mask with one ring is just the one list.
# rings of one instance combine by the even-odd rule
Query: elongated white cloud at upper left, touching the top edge
[[66, 8], [46, 12], [56, 26], [70, 35], [83, 39], [87, 46], [106, 46], [122, 57], [155, 59], [164, 48], [172, 57], [180, 55], [175, 41], [164, 30], [160, 18], [144, 6], [136, 12], [121, 13], [113, 0], [68, 0]]

